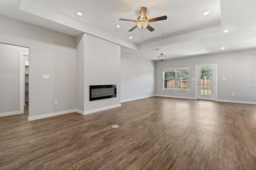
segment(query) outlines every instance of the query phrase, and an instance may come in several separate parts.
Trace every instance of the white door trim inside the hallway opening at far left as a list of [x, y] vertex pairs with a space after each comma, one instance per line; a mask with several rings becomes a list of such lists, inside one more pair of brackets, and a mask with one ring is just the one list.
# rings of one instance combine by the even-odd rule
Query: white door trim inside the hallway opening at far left
[[24, 55], [28, 53], [20, 52], [20, 113], [24, 113]]

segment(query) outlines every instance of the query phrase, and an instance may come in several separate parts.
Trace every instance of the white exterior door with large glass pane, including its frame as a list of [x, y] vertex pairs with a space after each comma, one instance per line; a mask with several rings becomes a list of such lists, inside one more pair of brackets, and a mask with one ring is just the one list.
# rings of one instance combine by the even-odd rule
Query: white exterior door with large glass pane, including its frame
[[196, 65], [196, 98], [217, 99], [217, 64]]

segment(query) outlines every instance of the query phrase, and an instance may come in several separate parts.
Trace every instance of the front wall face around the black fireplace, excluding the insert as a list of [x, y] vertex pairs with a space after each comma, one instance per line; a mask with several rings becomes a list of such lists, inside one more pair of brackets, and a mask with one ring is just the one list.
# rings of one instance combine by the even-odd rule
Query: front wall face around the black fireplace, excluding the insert
[[[120, 106], [120, 45], [88, 34], [84, 41], [84, 111]], [[116, 84], [116, 98], [89, 101], [90, 85], [108, 84]]]

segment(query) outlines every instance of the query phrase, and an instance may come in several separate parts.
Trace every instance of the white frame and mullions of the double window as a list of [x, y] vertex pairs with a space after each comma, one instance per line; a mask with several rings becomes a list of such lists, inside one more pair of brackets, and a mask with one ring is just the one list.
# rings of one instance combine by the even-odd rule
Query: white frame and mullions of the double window
[[[177, 71], [180, 70], [188, 70], [188, 78], [177, 78]], [[175, 73], [175, 77], [174, 79], [170, 79], [170, 78], [164, 78], [164, 72], [174, 72]], [[184, 91], [184, 92], [190, 92], [190, 71], [189, 71], [189, 67], [187, 68], [170, 68], [170, 69], [163, 69], [163, 86], [162, 86], [162, 90], [167, 90], [167, 91]], [[164, 88], [164, 80], [174, 80], [174, 88]], [[188, 89], [181, 89], [181, 88], [177, 88], [177, 80], [188, 80]]]

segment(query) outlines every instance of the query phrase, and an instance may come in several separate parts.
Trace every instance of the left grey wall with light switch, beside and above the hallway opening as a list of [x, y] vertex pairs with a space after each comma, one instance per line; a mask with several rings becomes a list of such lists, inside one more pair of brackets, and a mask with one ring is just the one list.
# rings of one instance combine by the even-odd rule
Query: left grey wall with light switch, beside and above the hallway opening
[[[0, 42], [30, 48], [30, 119], [75, 109], [76, 39], [2, 16], [0, 22]], [[50, 79], [42, 79], [43, 74]]]

